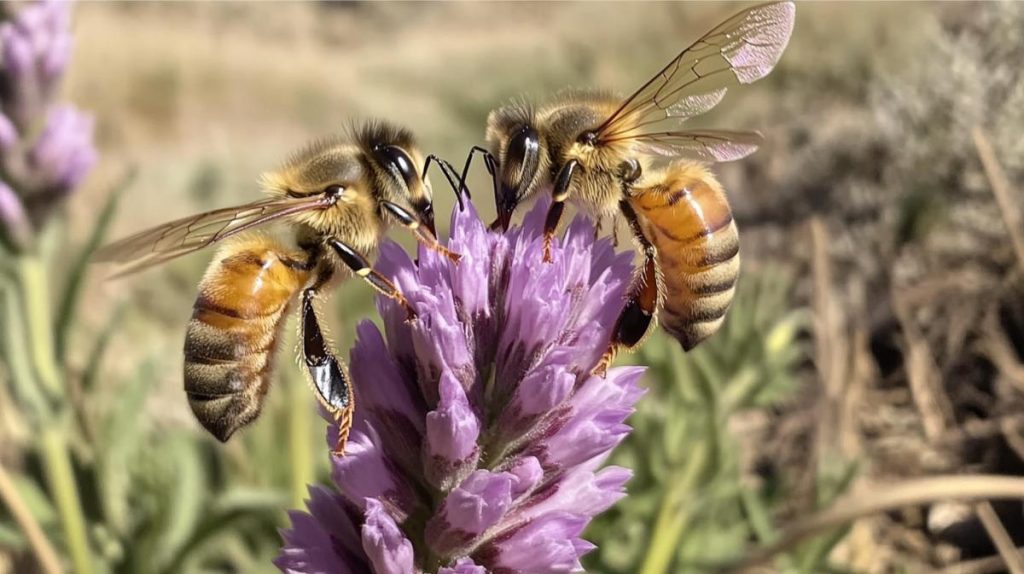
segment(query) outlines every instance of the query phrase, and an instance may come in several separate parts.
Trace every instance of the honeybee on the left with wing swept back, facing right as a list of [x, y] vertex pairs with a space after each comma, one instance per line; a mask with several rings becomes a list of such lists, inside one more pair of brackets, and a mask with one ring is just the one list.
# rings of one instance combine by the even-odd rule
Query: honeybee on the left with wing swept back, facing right
[[[185, 393], [207, 431], [226, 441], [259, 415], [282, 325], [301, 292], [300, 354], [316, 397], [341, 429], [335, 452], [344, 453], [355, 397], [314, 299], [354, 274], [402, 305], [409, 320], [416, 318], [368, 254], [393, 219], [458, 261], [434, 235], [426, 177], [431, 160], [441, 162], [433, 156], [424, 162], [404, 129], [368, 123], [316, 141], [263, 174], [267, 198], [165, 223], [97, 253], [99, 261], [122, 263], [123, 275], [222, 246], [200, 282], [184, 342]], [[251, 232], [271, 223], [283, 232]]]

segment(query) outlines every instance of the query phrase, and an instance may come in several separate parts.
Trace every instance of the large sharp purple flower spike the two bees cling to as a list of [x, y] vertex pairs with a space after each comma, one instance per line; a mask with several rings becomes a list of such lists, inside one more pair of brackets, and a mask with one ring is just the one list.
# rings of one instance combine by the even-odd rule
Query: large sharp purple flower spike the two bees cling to
[[334, 459], [339, 494], [313, 489], [310, 514], [293, 513], [282, 570], [581, 569], [594, 547], [584, 528], [630, 478], [599, 469], [630, 432], [643, 369], [591, 370], [622, 310], [633, 254], [595, 239], [581, 218], [544, 263], [546, 208], [504, 234], [488, 231], [472, 204], [457, 208], [449, 247], [459, 264], [422, 249], [414, 263], [382, 247], [378, 268], [419, 318], [407, 323], [404, 310], [378, 299], [384, 334], [358, 326], [359, 406], [345, 456]]

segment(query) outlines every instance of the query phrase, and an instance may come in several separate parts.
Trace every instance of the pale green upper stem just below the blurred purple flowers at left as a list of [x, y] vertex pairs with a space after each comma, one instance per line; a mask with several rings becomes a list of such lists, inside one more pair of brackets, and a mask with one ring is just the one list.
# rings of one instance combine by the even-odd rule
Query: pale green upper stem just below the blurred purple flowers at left
[[46, 267], [38, 257], [23, 256], [17, 260], [17, 276], [36, 377], [51, 397], [58, 398], [65, 389], [53, 352], [53, 320], [50, 317]]

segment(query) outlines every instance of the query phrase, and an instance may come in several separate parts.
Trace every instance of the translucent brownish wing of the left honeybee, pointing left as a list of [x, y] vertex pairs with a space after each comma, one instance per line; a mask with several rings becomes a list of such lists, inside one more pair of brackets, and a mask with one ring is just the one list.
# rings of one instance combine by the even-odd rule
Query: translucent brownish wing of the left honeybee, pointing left
[[93, 259], [123, 264], [115, 274], [119, 277], [199, 251], [283, 217], [326, 209], [335, 202], [336, 198], [323, 194], [274, 197], [183, 217], [106, 245], [96, 252]]

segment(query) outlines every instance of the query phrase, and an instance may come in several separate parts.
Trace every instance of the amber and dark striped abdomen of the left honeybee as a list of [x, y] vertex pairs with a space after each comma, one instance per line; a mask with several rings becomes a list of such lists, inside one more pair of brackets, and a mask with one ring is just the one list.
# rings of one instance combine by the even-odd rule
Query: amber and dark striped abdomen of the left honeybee
[[185, 393], [222, 441], [262, 407], [281, 325], [309, 276], [294, 265], [272, 242], [249, 237], [221, 249], [200, 283], [185, 335]]

